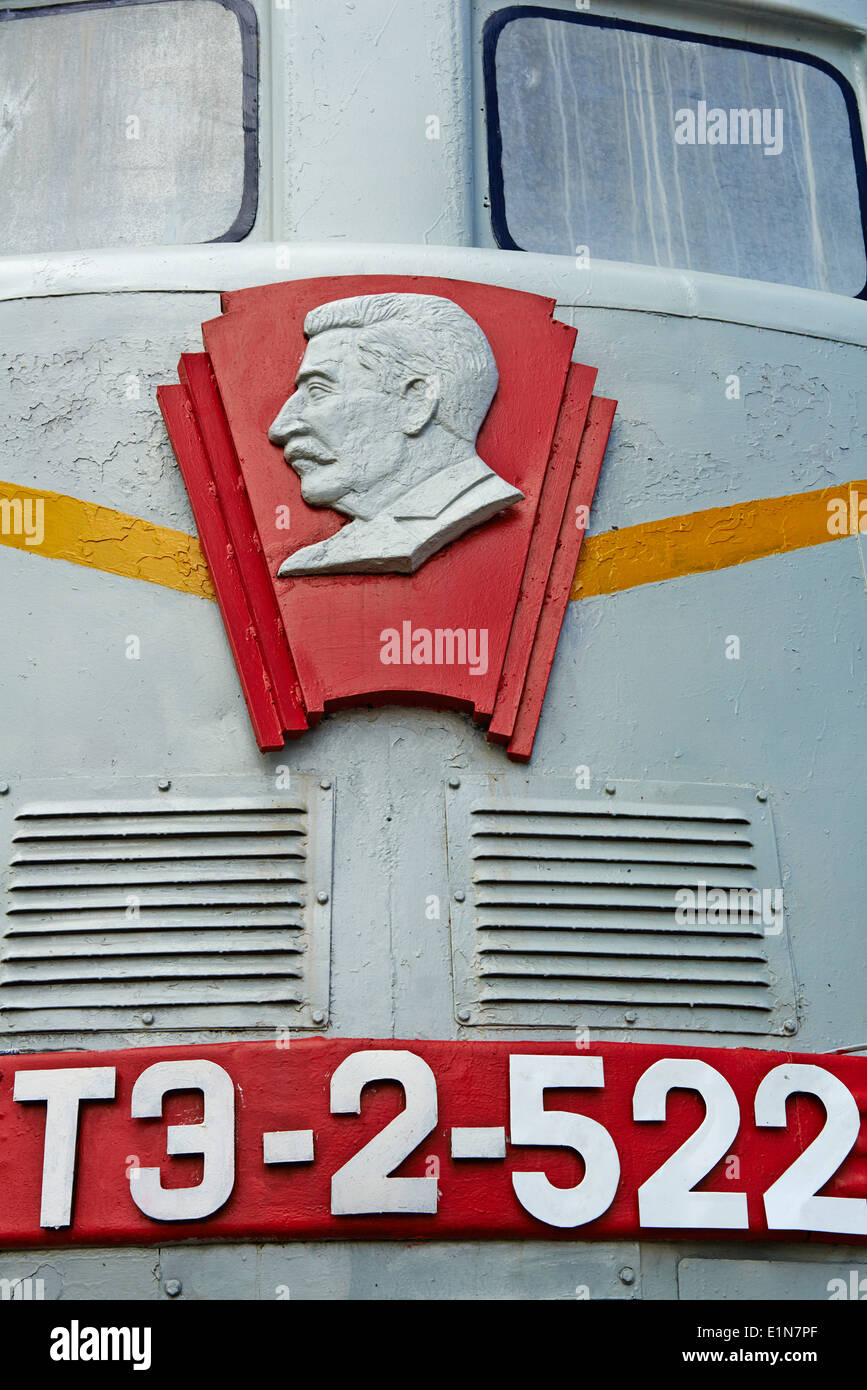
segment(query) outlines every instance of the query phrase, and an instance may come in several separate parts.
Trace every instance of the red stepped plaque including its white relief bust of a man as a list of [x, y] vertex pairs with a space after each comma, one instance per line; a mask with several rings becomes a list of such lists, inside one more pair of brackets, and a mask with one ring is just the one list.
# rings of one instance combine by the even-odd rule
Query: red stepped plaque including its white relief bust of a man
[[[325, 709], [417, 703], [471, 710], [528, 759], [616, 407], [572, 363], [575, 329], [550, 299], [420, 277], [267, 285], [222, 307], [158, 399], [260, 748]], [[475, 439], [479, 332], [496, 385]], [[288, 466], [270, 428], [313, 457]], [[324, 505], [349, 474], [377, 478]], [[404, 534], [422, 537], [411, 555]], [[299, 552], [310, 569], [281, 577]]]

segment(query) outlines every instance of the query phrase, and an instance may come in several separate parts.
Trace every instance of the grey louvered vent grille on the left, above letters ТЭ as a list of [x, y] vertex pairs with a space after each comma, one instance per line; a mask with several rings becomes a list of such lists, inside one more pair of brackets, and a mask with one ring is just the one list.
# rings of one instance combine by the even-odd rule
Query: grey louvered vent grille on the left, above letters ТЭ
[[[6, 1033], [310, 1027], [328, 1009], [331, 790], [25, 802], [11, 821]], [[260, 784], [261, 785], [261, 784]]]

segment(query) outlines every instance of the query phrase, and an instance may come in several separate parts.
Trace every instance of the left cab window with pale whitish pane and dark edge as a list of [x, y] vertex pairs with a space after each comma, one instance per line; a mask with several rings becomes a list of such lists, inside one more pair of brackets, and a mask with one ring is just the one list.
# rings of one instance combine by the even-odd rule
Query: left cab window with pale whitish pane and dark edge
[[249, 0], [0, 11], [0, 254], [245, 236], [257, 81]]

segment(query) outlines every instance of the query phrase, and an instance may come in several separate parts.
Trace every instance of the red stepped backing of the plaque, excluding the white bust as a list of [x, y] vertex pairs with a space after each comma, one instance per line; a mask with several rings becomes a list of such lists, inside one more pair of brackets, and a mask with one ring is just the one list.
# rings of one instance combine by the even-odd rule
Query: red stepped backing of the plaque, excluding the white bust
[[[267, 430], [292, 391], [310, 309], [377, 293], [453, 299], [484, 329], [500, 384], [478, 453], [524, 493], [415, 574], [278, 580], [289, 552], [333, 535], [336, 512], [310, 507]], [[572, 363], [575, 329], [554, 300], [493, 285], [364, 275], [238, 291], [185, 353], [181, 384], [157, 392], [258, 746], [281, 748], [324, 710], [410, 703], [467, 709], [527, 760], [616, 402]], [[276, 517], [289, 507], [290, 530]], [[488, 670], [381, 662], [386, 628], [488, 630]]]

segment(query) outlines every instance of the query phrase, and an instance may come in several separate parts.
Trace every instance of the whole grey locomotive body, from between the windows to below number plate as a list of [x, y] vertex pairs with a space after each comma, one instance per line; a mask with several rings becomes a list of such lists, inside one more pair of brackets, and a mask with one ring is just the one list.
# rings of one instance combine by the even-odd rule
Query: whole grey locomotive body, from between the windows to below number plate
[[[275, 279], [343, 274], [446, 275], [557, 300], [577, 357], [620, 399], [591, 535], [864, 474], [867, 314], [842, 296], [718, 275], [493, 250], [478, 33], [493, 4], [338, 0], [257, 4], [261, 36], [261, 202], [238, 246], [181, 246], [0, 260], [0, 428], [4, 477], [192, 531], [186, 493], [154, 404], [218, 295]], [[720, 7], [695, 24], [791, 42], [834, 61], [864, 103], [864, 10], [821, 15], [788, 0]], [[647, 6], [600, 14], [650, 18]], [[654, 4], [667, 24], [679, 8]], [[472, 74], [475, 72], [475, 78]], [[472, 81], [475, 92], [472, 92]], [[428, 136], [439, 122], [439, 138]], [[306, 239], [308, 245], [303, 245]], [[479, 249], [472, 249], [474, 243]], [[403, 245], [400, 245], [403, 243]], [[438, 245], [428, 245], [438, 243]], [[738, 399], [725, 395], [739, 378]], [[781, 510], [781, 517], [782, 517]], [[468, 719], [421, 709], [346, 710], [279, 753], [260, 755], [220, 613], [151, 584], [39, 555], [0, 552], [7, 595], [0, 780], [88, 777], [178, 785], [238, 778], [275, 795], [297, 773], [335, 781], [331, 1020], [345, 1037], [521, 1037], [454, 1017], [443, 783], [518, 776]], [[589, 769], [607, 781], [766, 788], [798, 965], [798, 1047], [867, 1040], [857, 771], [866, 670], [863, 537], [750, 564], [588, 598], [568, 607], [532, 760], [539, 778]], [[741, 656], [725, 642], [738, 635]], [[135, 635], [140, 656], [126, 656]], [[58, 792], [58, 795], [63, 795]], [[754, 795], [754, 791], [750, 792]], [[7, 845], [0, 852], [7, 858]], [[436, 910], [431, 910], [436, 903]], [[459, 929], [460, 930], [460, 929]], [[581, 1022], [581, 1020], [578, 1020]], [[643, 1020], [639, 1019], [639, 1024]], [[229, 1034], [236, 1031], [229, 1029]], [[211, 1036], [211, 1034], [208, 1034]], [[222, 1034], [228, 1036], [228, 1034]], [[534, 1036], [565, 1038], [571, 1026]], [[613, 1040], [718, 1042], [672, 1020], [607, 1026]], [[90, 1047], [88, 1031], [56, 1038]], [[139, 1045], [153, 1030], [103, 1041]], [[754, 1034], [727, 1036], [754, 1045]], [[763, 1045], [788, 1047], [777, 1036]], [[24, 1036], [17, 1047], [43, 1045]], [[50, 1266], [46, 1297], [591, 1297], [722, 1298], [821, 1289], [863, 1252], [724, 1243], [525, 1245], [170, 1247], [10, 1252], [0, 1277]], [[806, 1258], [809, 1255], [809, 1259]], [[158, 1266], [158, 1268], [157, 1268]], [[757, 1268], [759, 1273], [754, 1272]], [[620, 1279], [632, 1268], [632, 1283]], [[792, 1273], [792, 1268], [795, 1273]], [[779, 1270], [779, 1273], [775, 1273]], [[809, 1270], [809, 1272], [807, 1272]], [[816, 1276], [813, 1273], [816, 1270]], [[49, 1293], [53, 1289], [56, 1293]], [[813, 1291], [816, 1290], [816, 1291]], [[279, 1295], [286, 1297], [286, 1295]]]

